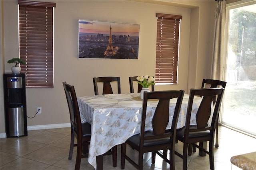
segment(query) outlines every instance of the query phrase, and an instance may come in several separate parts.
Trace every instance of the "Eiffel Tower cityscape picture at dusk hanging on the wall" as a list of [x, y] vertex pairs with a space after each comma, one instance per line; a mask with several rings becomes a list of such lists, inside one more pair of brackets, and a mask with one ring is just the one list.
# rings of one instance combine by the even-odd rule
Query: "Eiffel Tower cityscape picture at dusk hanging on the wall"
[[78, 20], [79, 59], [138, 59], [140, 25]]

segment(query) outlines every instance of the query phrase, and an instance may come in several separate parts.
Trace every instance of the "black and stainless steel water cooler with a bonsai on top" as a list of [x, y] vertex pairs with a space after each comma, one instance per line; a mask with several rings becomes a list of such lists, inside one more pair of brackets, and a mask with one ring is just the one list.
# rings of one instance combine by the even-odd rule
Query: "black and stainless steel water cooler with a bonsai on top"
[[4, 74], [6, 137], [28, 135], [25, 74]]

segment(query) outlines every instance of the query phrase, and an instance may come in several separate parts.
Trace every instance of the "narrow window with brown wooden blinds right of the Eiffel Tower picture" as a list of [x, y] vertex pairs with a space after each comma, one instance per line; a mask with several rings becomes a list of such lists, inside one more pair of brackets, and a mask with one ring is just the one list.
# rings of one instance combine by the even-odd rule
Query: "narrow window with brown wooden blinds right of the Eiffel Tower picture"
[[156, 14], [156, 84], [177, 84], [179, 29], [182, 16]]

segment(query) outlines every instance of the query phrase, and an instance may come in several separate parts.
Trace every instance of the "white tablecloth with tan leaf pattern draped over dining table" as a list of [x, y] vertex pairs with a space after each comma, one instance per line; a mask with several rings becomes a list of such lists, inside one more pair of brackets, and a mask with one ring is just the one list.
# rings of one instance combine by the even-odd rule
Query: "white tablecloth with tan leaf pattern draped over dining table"
[[[177, 128], [185, 125], [188, 94], [184, 94]], [[190, 124], [196, 124], [195, 114], [202, 98], [195, 98]], [[158, 104], [148, 102], [146, 129], [152, 128], [151, 120]], [[174, 112], [176, 100], [170, 102], [170, 113]], [[140, 133], [142, 100], [139, 93], [85, 96], [78, 98], [82, 121], [92, 125], [88, 162], [96, 169], [96, 156], [106, 153], [115, 145], [124, 143], [132, 135]], [[169, 127], [173, 115], [170, 114]]]

